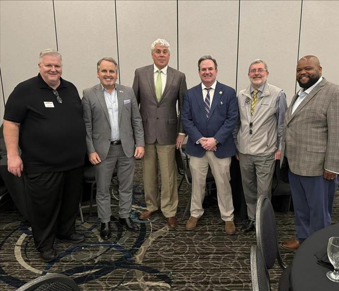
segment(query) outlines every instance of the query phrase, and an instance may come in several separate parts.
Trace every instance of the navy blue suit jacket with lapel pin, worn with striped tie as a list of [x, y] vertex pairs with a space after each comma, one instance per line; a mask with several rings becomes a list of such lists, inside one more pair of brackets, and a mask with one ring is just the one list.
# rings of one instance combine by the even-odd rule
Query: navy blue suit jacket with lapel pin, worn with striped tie
[[214, 137], [219, 142], [214, 152], [219, 159], [236, 154], [232, 130], [238, 122], [238, 102], [233, 88], [216, 82], [209, 118], [206, 118], [201, 83], [186, 91], [182, 122], [188, 141], [185, 152], [203, 157], [206, 150], [196, 142], [201, 137]]

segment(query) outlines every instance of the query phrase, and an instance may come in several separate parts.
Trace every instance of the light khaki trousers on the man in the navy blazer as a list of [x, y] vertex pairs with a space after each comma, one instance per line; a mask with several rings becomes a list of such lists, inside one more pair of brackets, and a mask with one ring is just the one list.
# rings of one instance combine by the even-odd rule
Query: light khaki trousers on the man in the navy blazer
[[199, 218], [204, 212], [202, 202], [205, 196], [208, 165], [210, 165], [216, 181], [221, 219], [232, 221], [234, 207], [230, 185], [231, 157], [218, 159], [213, 151], [206, 151], [202, 158], [190, 157], [189, 167], [192, 174], [191, 216]]

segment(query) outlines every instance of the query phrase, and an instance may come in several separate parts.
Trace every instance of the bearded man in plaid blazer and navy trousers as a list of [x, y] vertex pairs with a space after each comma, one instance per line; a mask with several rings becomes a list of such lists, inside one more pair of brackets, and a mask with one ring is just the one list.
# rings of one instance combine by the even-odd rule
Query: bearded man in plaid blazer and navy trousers
[[326, 81], [322, 70], [315, 56], [299, 60], [296, 80], [301, 89], [285, 114], [282, 154], [290, 167], [297, 237], [282, 242], [287, 249], [297, 249], [331, 224], [339, 182], [339, 86]]

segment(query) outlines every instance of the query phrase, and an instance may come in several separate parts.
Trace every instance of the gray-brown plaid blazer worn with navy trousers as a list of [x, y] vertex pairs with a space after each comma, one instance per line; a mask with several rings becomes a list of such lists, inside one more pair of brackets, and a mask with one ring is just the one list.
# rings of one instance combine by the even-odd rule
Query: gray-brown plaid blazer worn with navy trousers
[[296, 94], [285, 114], [282, 157], [301, 176], [339, 172], [339, 85], [321, 81], [292, 114]]

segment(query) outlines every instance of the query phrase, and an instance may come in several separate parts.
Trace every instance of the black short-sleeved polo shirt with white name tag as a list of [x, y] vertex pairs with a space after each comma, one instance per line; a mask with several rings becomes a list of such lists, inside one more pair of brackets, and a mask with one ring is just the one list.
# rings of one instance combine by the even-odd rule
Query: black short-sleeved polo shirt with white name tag
[[8, 97], [3, 118], [20, 123], [19, 147], [28, 172], [59, 172], [84, 163], [81, 100], [71, 82], [60, 81], [56, 90], [62, 103], [40, 74], [19, 83]]

